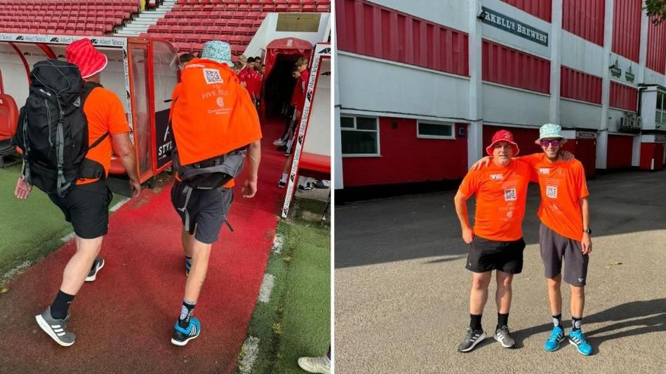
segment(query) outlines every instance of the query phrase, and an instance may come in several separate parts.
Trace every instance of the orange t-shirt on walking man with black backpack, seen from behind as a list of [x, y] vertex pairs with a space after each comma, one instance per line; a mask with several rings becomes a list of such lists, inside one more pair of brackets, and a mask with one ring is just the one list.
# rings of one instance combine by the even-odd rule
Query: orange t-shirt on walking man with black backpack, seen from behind
[[[88, 118], [89, 145], [92, 145], [102, 135], [109, 132], [109, 135], [100, 144], [86, 154], [86, 158], [100, 162], [108, 176], [113, 151], [111, 135], [131, 132], [125, 116], [125, 109], [116, 94], [106, 88], [98, 87], [93, 89], [86, 102], [84, 102], [84, 113]], [[98, 179], [79, 179], [76, 184], [86, 184], [94, 181], [98, 181]]]

